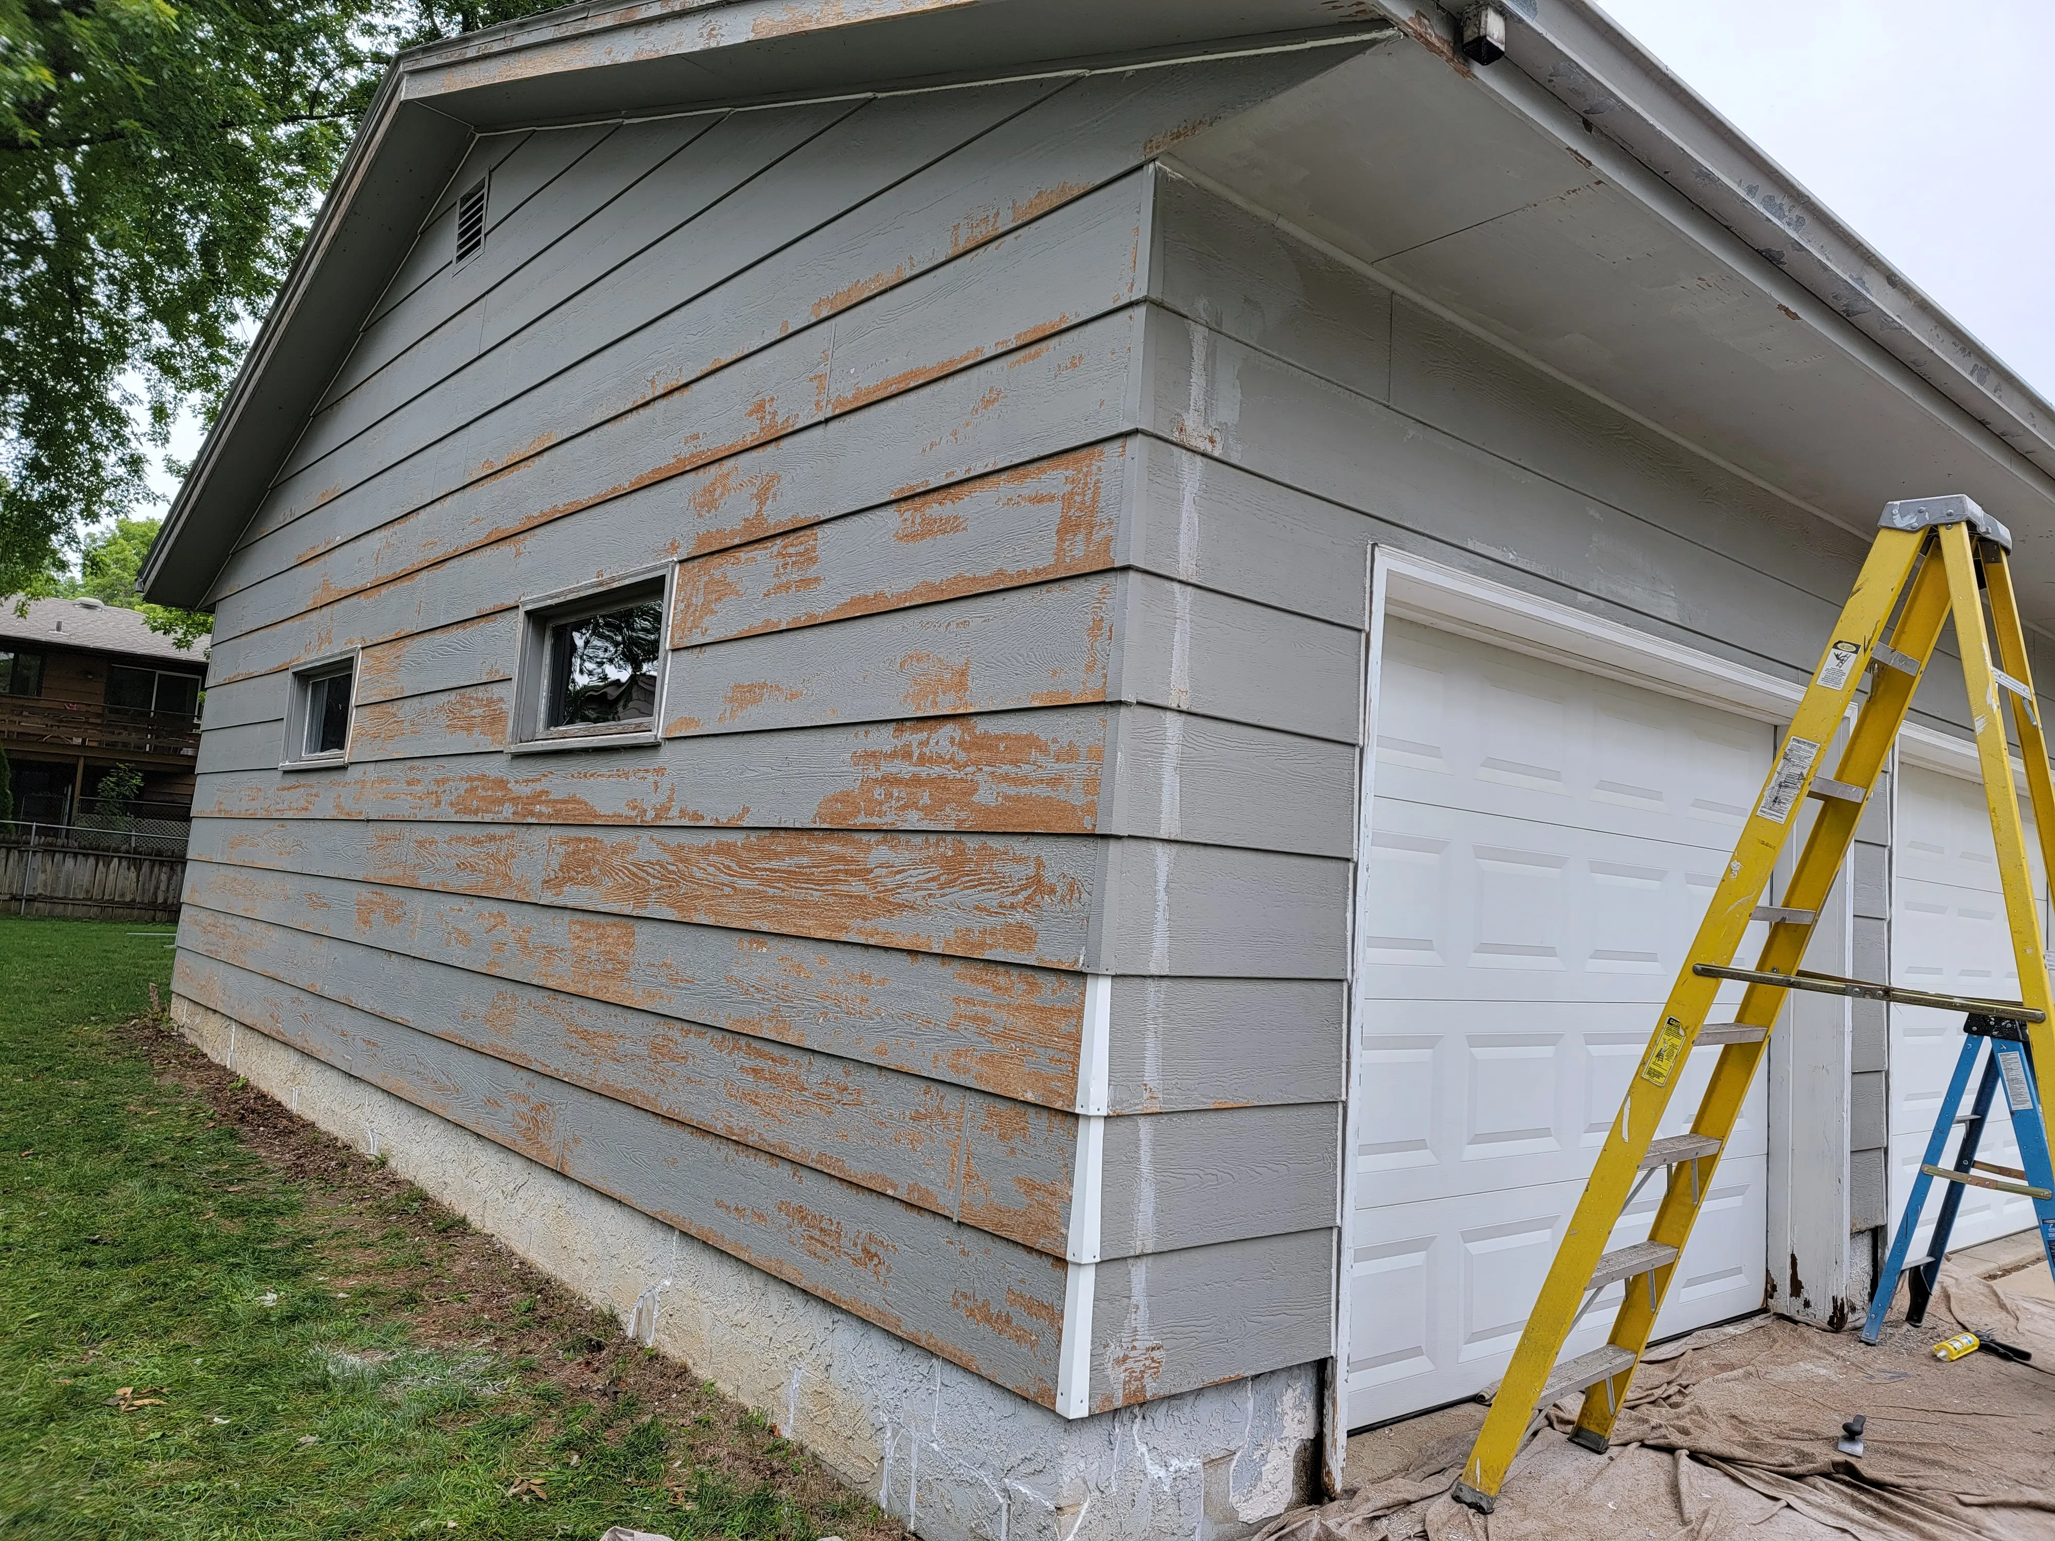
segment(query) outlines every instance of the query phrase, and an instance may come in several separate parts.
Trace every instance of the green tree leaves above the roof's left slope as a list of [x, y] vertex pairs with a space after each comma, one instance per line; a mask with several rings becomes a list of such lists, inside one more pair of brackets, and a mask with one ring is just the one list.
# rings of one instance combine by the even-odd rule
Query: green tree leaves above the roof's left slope
[[0, 594], [214, 411], [390, 49], [545, 8], [0, 0]]

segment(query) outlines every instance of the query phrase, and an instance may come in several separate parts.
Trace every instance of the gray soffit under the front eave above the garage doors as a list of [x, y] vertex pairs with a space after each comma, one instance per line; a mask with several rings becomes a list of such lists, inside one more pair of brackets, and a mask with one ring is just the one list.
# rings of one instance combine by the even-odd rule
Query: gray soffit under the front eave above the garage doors
[[2055, 479], [1619, 146], [1480, 74], [1371, 49], [1178, 162], [1852, 530], [1969, 493], [2041, 536], [2016, 575], [2055, 629]]

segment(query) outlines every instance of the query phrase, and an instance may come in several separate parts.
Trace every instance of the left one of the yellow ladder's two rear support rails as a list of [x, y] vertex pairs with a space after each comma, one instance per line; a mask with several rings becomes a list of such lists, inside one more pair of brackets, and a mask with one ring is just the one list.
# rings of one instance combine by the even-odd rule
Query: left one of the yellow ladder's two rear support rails
[[[1983, 625], [1977, 553], [1967, 524], [1938, 526], [1938, 536], [1942, 561], [1948, 565], [1948, 592], [1954, 596], [1954, 641], [1963, 655], [1963, 680], [1969, 686], [1969, 715], [1977, 727], [1983, 803], [1991, 814], [1997, 879], [2006, 894], [2006, 925], [2012, 931], [2012, 957], [2020, 972], [2020, 1001], [2047, 1013], [2051, 1007], [2047, 951], [2034, 900], [2034, 877], [2026, 861], [2020, 799], [2012, 791], [2012, 746], [2006, 742], [2006, 709], [2000, 701], [1997, 666], [1991, 660], [1991, 641]], [[2010, 588], [2006, 565], [1993, 563], [1987, 581]], [[2037, 1073], [2041, 1077], [2055, 1075], [2055, 1023], [2047, 1019], [2032, 1023], [2028, 1038], [2034, 1046]], [[2043, 1083], [2041, 1091], [2045, 1101], [2055, 1087]]]

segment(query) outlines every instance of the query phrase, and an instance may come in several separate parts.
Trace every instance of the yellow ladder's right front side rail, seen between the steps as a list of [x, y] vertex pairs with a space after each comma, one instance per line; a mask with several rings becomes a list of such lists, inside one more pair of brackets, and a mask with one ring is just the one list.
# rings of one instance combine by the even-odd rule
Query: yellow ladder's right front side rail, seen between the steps
[[[1946, 621], [1948, 577], [1942, 563], [1934, 561], [1932, 553], [1928, 553], [1928, 559], [1921, 561], [1919, 569], [1911, 575], [1909, 586], [1905, 588], [1905, 600], [1897, 610], [1897, 625], [1891, 631], [1889, 645], [1909, 655], [1923, 670], [1934, 657], [1934, 649], [1940, 645], [1940, 633]], [[1899, 740], [1899, 729], [1905, 725], [1905, 713], [1911, 707], [1917, 684], [1919, 680], [1915, 674], [1876, 670], [1870, 692], [1864, 697], [1862, 707], [1856, 713], [1856, 723], [1847, 734], [1847, 746], [1841, 750], [1839, 766], [1833, 773], [1835, 781], [1864, 789], [1876, 785], [1876, 779], [1882, 775], [1882, 766], [1891, 758], [1891, 750]], [[1792, 731], [1796, 731], [1796, 723]], [[1798, 863], [1792, 869], [1790, 884], [1786, 886], [1784, 904], [1788, 908], [1810, 910], [1815, 914], [1821, 910], [1827, 902], [1827, 892], [1833, 888], [1835, 877], [1847, 863], [1847, 849], [1854, 844], [1864, 807], [1866, 801], [1854, 803], [1839, 797], [1821, 803], [1804, 847], [1800, 849]], [[1810, 939], [1810, 925], [1792, 920], [1771, 925], [1769, 937], [1763, 941], [1757, 970], [1776, 970], [1780, 974], [1796, 972], [1798, 964], [1804, 962], [1804, 949]], [[1773, 984], [1751, 984], [1741, 997], [1741, 1007], [1734, 1011], [1734, 1019], [1771, 1025], [1788, 994], [1788, 990]], [[1699, 1101], [1691, 1132], [1718, 1138], [1722, 1155], [1734, 1124], [1741, 1120], [1741, 1105], [1747, 1101], [1749, 1087], [1755, 1081], [1755, 1070], [1761, 1064], [1765, 1048], [1767, 1038], [1755, 1044], [1728, 1044], [1720, 1050], [1720, 1060], [1712, 1068], [1712, 1081]], [[1648, 1229], [1648, 1239], [1677, 1247], [1679, 1262], [1685, 1243], [1691, 1239], [1697, 1214], [1704, 1208], [1704, 1194], [1718, 1177], [1718, 1161], [1720, 1155], [1714, 1155], [1710, 1171], [1699, 1177], [1697, 1194], [1691, 1194], [1673, 1181], [1662, 1194], [1662, 1202], [1656, 1206], [1656, 1218]], [[1632, 1350], [1636, 1354], [1636, 1366], [1650, 1333], [1654, 1331], [1656, 1317], [1662, 1311], [1662, 1301], [1669, 1294], [1675, 1268], [1677, 1264], [1673, 1262], [1656, 1270], [1652, 1290], [1630, 1290], [1628, 1299], [1619, 1303], [1619, 1315], [1613, 1323], [1611, 1342], [1619, 1348]], [[1584, 1397], [1584, 1405], [1576, 1418], [1576, 1432], [1582, 1434], [1580, 1442], [1589, 1449], [1605, 1449], [1605, 1442], [1611, 1438], [1619, 1407], [1626, 1405], [1632, 1375], [1634, 1370], [1630, 1368], [1615, 1377], [1609, 1397]], [[1572, 1438], [1576, 1434], [1572, 1434]]]

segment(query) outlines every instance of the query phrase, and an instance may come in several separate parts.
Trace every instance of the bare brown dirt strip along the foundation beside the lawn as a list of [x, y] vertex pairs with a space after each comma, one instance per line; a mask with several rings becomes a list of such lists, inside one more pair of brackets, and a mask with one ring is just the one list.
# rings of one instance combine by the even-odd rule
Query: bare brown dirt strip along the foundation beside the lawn
[[[816, 1457], [787, 1442], [777, 1424], [723, 1397], [688, 1364], [645, 1350], [604, 1311], [475, 1231], [413, 1183], [333, 1134], [298, 1118], [187, 1044], [169, 1023], [134, 1021], [123, 1029], [156, 1077], [201, 1097], [214, 1126], [228, 1126], [306, 1204], [321, 1239], [323, 1282], [362, 1307], [382, 1309], [409, 1327], [419, 1348], [506, 1356], [530, 1385], [551, 1383], [565, 1407], [633, 1399], [639, 1418], [614, 1424], [606, 1438], [664, 1418], [676, 1430], [672, 1502], [690, 1506], [686, 1475], [711, 1469], [738, 1490], [775, 1483], [810, 1512], [838, 1514], [849, 1541], [902, 1541], [906, 1531], [857, 1498]], [[680, 1527], [686, 1529], [686, 1527]]]

